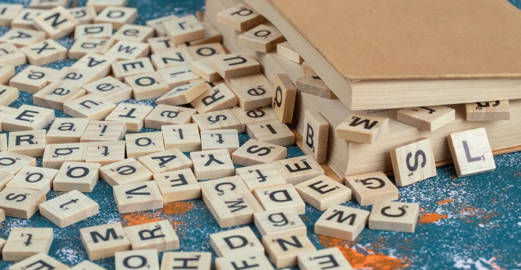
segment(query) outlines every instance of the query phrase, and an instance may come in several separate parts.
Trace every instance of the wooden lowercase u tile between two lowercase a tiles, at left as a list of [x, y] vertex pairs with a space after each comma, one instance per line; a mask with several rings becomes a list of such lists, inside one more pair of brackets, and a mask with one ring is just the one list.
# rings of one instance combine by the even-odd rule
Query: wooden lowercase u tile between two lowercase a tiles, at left
[[103, 120], [116, 109], [116, 104], [92, 93], [64, 103], [64, 113], [78, 118]]

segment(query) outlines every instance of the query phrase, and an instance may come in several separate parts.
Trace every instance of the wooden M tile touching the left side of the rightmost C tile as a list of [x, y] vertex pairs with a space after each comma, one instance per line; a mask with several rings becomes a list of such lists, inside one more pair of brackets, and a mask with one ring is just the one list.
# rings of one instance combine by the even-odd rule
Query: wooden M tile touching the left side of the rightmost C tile
[[354, 241], [368, 219], [369, 211], [333, 205], [315, 223], [315, 234]]

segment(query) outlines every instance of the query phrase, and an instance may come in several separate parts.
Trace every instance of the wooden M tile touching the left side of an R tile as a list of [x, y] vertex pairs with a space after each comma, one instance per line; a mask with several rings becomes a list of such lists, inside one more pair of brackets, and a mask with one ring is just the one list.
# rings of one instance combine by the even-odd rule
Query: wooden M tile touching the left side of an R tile
[[80, 237], [91, 261], [114, 257], [117, 251], [130, 250], [130, 241], [119, 222], [81, 228]]

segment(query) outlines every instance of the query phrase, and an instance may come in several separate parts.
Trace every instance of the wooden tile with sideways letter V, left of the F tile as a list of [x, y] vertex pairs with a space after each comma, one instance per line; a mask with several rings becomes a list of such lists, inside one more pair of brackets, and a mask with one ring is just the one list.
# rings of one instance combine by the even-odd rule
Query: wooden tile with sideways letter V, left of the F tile
[[155, 181], [117, 185], [113, 188], [120, 214], [163, 208], [163, 197]]

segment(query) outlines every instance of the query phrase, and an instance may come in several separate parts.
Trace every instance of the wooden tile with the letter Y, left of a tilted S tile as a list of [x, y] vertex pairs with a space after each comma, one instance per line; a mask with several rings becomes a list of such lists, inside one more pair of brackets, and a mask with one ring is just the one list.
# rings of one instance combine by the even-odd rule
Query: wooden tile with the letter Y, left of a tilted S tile
[[191, 152], [190, 159], [192, 159], [197, 180], [233, 176], [233, 163], [230, 153], [226, 149]]

